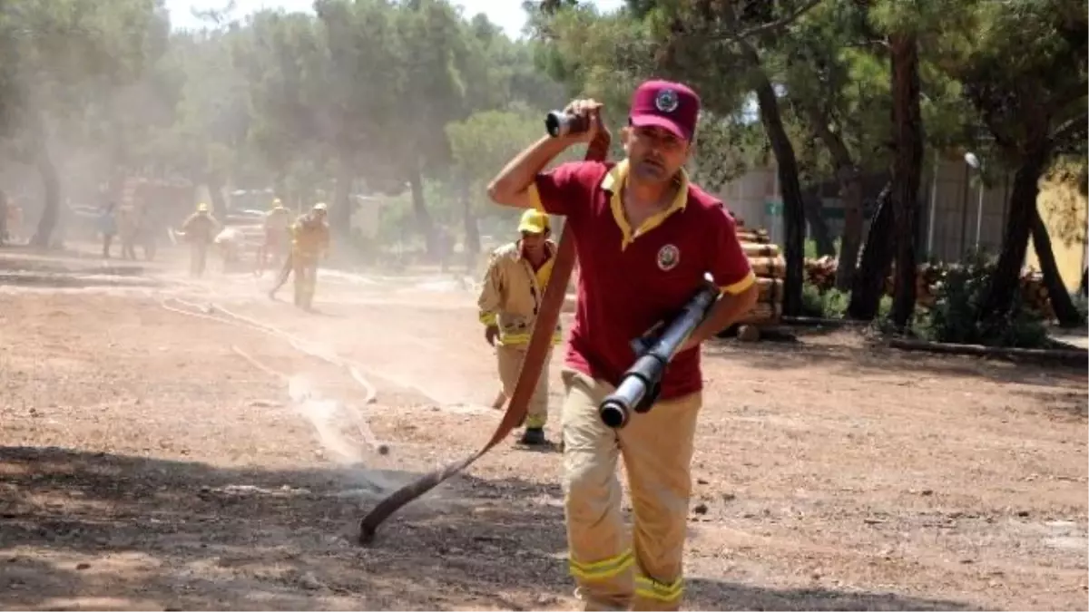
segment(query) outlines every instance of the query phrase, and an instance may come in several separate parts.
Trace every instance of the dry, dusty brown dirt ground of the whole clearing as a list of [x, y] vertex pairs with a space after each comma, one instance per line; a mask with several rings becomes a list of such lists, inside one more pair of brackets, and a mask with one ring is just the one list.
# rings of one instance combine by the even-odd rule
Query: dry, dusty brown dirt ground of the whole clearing
[[[498, 421], [472, 293], [331, 276], [303, 315], [267, 282], [0, 254], [0, 609], [576, 609], [554, 452], [504, 443], [352, 543]], [[846, 332], [706, 354], [686, 609], [1089, 609], [1084, 371]]]

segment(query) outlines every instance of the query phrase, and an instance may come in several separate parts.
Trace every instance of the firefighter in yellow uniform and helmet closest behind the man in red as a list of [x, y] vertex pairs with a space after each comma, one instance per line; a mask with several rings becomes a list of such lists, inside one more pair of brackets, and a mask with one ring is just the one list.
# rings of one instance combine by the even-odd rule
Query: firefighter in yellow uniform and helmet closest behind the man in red
[[[505, 244], [491, 254], [480, 297], [477, 299], [480, 322], [485, 326], [485, 339], [495, 347], [499, 379], [507, 400], [514, 394], [534, 321], [555, 259], [555, 243], [549, 240], [551, 225], [548, 215], [526, 210], [518, 223], [518, 232], [522, 234], [521, 240]], [[560, 328], [556, 326], [552, 345], [560, 341]], [[551, 358], [550, 351], [529, 401], [526, 430], [522, 436], [524, 444], [549, 443], [544, 437], [544, 425], [548, 421], [548, 363]]]

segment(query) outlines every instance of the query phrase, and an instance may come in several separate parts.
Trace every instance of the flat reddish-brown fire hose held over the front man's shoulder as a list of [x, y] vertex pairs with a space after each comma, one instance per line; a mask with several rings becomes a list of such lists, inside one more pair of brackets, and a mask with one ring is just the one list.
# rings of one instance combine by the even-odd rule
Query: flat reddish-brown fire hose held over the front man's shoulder
[[[589, 124], [586, 121], [578, 121], [578, 119], [564, 115], [563, 113], [552, 112], [549, 113], [546, 120], [546, 126], [549, 134], [555, 137], [561, 133], [585, 131]], [[603, 161], [609, 154], [610, 142], [609, 132], [604, 128], [600, 130], [586, 148], [586, 160]], [[563, 299], [567, 293], [567, 282], [571, 280], [571, 272], [574, 266], [575, 238], [571, 235], [570, 231], [564, 230], [560, 234], [560, 244], [556, 246], [555, 259], [552, 264], [552, 276], [544, 287], [544, 295], [541, 297], [541, 305], [537, 313], [533, 333], [529, 336], [529, 345], [526, 347], [526, 355], [522, 362], [518, 380], [514, 385], [514, 393], [506, 405], [503, 419], [495, 428], [495, 432], [492, 433], [488, 443], [476, 453], [425, 474], [417, 480], [409, 482], [379, 501], [378, 505], [371, 509], [359, 522], [360, 544], [368, 544], [374, 541], [379, 525], [393, 513], [472, 465], [476, 460], [503, 441], [523, 421], [529, 407], [529, 400], [533, 397], [534, 390], [537, 387], [537, 380], [541, 376], [547, 376], [547, 372], [542, 371], [544, 368], [544, 357], [552, 346], [552, 333], [560, 320], [560, 310], [563, 307]]]

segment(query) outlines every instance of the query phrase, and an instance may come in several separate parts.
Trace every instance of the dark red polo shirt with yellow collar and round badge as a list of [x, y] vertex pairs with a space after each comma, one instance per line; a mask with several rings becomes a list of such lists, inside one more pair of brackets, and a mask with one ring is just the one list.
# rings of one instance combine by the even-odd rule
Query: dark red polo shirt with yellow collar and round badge
[[[635, 362], [629, 342], [684, 306], [710, 273], [723, 291], [756, 280], [722, 203], [682, 173], [676, 199], [633, 230], [621, 192], [627, 162], [564, 163], [537, 175], [535, 206], [567, 218], [578, 257], [578, 307], [566, 365], [617, 384]], [[699, 351], [680, 353], [665, 368], [661, 400], [703, 387]]]

